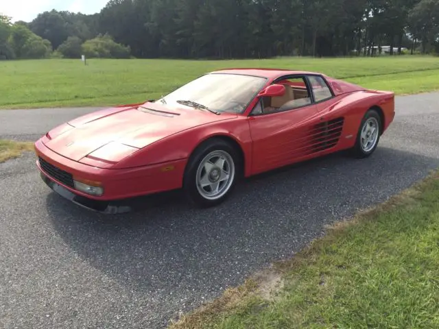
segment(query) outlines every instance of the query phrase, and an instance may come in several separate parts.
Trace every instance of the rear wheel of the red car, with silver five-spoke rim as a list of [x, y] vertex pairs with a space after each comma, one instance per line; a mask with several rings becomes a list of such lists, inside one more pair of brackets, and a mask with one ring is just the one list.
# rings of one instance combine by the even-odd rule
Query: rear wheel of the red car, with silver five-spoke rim
[[381, 136], [381, 117], [377, 110], [370, 109], [361, 120], [357, 140], [353, 147], [353, 155], [357, 158], [367, 158], [377, 149]]

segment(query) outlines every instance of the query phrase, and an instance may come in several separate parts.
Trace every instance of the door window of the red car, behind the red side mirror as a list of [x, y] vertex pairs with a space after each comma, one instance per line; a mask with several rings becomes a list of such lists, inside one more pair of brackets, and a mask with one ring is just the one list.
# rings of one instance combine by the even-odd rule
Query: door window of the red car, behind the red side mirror
[[285, 110], [294, 110], [311, 104], [311, 95], [303, 77], [294, 77], [275, 82], [283, 84], [286, 93], [281, 97], [263, 99], [263, 113], [270, 114]]

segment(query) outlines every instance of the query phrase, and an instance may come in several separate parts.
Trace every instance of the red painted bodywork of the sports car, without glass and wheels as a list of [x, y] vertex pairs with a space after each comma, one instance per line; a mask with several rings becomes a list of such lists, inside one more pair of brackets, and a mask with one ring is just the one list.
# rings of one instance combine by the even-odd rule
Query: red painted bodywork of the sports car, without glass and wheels
[[[319, 74], [275, 69], [213, 73], [265, 77], [265, 86], [286, 76]], [[257, 97], [241, 114], [216, 115], [152, 102], [119, 106], [55, 127], [35, 143], [36, 154], [73, 178], [104, 186], [104, 195], [95, 197], [57, 181], [69, 191], [111, 200], [180, 188], [189, 157], [202, 141], [214, 136], [235, 142], [244, 156], [244, 175], [248, 177], [353, 147], [361, 119], [372, 107], [381, 109], [383, 131], [387, 130], [394, 119], [393, 93], [321, 76], [334, 97], [303, 108], [251, 116]], [[38, 161], [37, 165], [40, 168]]]

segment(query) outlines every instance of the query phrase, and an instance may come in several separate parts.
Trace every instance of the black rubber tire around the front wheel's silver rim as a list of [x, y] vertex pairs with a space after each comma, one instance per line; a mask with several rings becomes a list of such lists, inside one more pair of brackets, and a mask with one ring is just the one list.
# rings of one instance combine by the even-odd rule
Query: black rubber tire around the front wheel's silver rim
[[[210, 155], [213, 151], [219, 151], [230, 156], [234, 165], [233, 178], [230, 178], [230, 186], [228, 186], [224, 195], [217, 197], [216, 199], [206, 198], [198, 189], [197, 176], [198, 169], [203, 159]], [[227, 197], [232, 193], [237, 179], [241, 176], [241, 156], [239, 151], [232, 143], [224, 141], [222, 138], [211, 138], [204, 143], [200, 144], [189, 158], [189, 162], [185, 169], [185, 175], [183, 177], [183, 191], [187, 199], [191, 204], [199, 208], [209, 208], [217, 206], [224, 202]], [[203, 170], [203, 169], [201, 169]], [[205, 169], [204, 169], [204, 172]], [[227, 183], [229, 184], [229, 183]]]

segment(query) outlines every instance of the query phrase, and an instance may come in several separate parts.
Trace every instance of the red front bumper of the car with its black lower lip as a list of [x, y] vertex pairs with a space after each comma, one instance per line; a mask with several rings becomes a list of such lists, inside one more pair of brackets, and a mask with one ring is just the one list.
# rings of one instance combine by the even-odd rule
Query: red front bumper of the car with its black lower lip
[[[36, 167], [42, 174], [43, 181], [53, 191], [84, 208], [107, 214], [128, 212], [137, 208], [130, 206], [133, 199], [180, 188], [186, 162], [182, 159], [128, 169], [100, 169], [56, 154], [41, 140], [35, 143], [35, 151], [38, 158], [60, 169], [56, 172], [53, 171], [54, 168], [45, 168], [45, 171], [40, 160], [36, 160]], [[169, 167], [173, 170], [165, 170]], [[102, 182], [104, 195], [97, 197], [77, 191], [71, 181], [65, 180], [66, 174], [72, 178]]]

